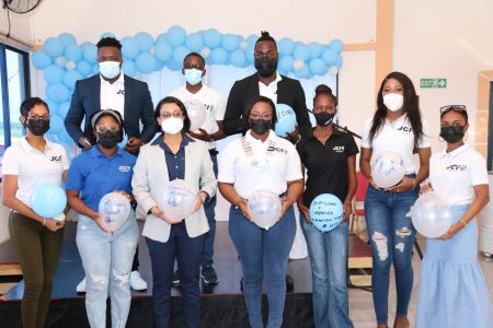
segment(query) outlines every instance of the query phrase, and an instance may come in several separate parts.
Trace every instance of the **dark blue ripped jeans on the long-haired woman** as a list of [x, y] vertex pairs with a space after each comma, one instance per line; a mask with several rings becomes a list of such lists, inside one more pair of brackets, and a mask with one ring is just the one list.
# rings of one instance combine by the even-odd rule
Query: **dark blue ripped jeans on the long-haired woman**
[[[411, 176], [411, 177], [414, 177]], [[393, 261], [398, 316], [408, 315], [413, 290], [412, 249], [416, 231], [406, 216], [417, 199], [419, 188], [406, 192], [389, 192], [368, 187], [365, 219], [374, 261], [371, 284], [377, 323], [387, 324], [390, 266]]]

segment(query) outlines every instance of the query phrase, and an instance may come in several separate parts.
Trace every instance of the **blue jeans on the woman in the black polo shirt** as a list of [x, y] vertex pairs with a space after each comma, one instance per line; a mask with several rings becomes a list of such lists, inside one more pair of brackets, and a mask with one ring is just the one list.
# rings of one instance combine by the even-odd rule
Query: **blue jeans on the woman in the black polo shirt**
[[316, 327], [353, 327], [347, 304], [348, 221], [322, 233], [299, 213], [311, 262], [313, 318]]

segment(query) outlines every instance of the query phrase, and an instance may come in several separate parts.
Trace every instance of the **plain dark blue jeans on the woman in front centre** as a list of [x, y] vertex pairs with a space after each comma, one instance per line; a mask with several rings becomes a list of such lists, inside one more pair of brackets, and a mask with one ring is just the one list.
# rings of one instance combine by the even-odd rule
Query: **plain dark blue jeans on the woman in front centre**
[[295, 211], [290, 207], [270, 230], [263, 230], [243, 216], [240, 209], [229, 211], [229, 234], [243, 268], [243, 292], [252, 328], [262, 321], [262, 286], [265, 278], [268, 300], [267, 327], [283, 325], [286, 298], [286, 271], [296, 233]]

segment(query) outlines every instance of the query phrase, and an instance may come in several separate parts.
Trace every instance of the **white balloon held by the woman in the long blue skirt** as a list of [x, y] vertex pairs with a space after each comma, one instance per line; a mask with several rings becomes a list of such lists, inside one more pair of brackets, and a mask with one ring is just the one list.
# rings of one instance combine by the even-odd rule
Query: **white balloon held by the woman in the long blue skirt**
[[417, 198], [411, 208], [411, 219], [417, 232], [428, 238], [442, 236], [452, 224], [450, 208], [435, 191], [428, 191]]

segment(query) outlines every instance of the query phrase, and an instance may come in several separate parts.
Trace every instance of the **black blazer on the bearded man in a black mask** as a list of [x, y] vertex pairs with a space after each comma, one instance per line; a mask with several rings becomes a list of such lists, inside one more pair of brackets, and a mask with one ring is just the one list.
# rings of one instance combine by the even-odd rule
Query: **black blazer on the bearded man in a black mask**
[[[308, 116], [305, 92], [298, 80], [280, 75], [277, 84], [277, 104], [286, 104], [293, 107], [298, 122], [298, 129], [302, 137], [311, 134], [311, 122]], [[225, 133], [236, 134], [244, 133], [248, 130], [246, 109], [249, 102], [260, 94], [259, 75], [246, 77], [243, 80], [234, 82], [229, 92], [228, 104], [223, 119]]]

